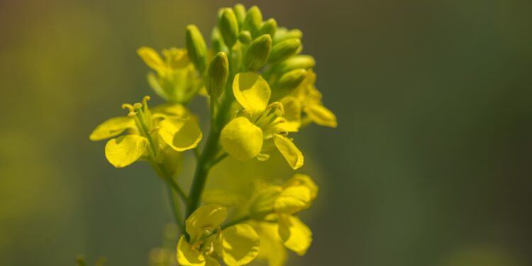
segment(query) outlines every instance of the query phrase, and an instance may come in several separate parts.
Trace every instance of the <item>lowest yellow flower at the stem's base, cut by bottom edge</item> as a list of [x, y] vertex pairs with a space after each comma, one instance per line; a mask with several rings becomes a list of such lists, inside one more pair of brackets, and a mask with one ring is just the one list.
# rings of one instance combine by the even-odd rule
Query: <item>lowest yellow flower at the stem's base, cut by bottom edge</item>
[[201, 206], [187, 218], [184, 236], [177, 243], [179, 265], [214, 266], [223, 259], [226, 265], [246, 265], [257, 257], [260, 238], [248, 224], [237, 224], [221, 230], [227, 209], [221, 205]]

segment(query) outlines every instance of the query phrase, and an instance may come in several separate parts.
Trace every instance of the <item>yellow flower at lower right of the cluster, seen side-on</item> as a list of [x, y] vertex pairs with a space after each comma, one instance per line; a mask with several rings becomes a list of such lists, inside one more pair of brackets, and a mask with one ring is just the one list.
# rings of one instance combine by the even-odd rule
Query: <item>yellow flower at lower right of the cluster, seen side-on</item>
[[[262, 250], [260, 258], [270, 261], [270, 265], [277, 262], [279, 248], [275, 239], [280, 240], [289, 250], [298, 255], [304, 255], [312, 243], [312, 232], [297, 216], [299, 211], [308, 209], [318, 194], [318, 186], [306, 174], [295, 174], [284, 182], [282, 186], [272, 186], [262, 189], [250, 203], [250, 213], [256, 220], [251, 224], [262, 236], [262, 232], [276, 229], [278, 237], [270, 236], [266, 243], [268, 247]], [[273, 223], [273, 227], [272, 227]], [[269, 226], [267, 224], [270, 224]], [[264, 233], [267, 234], [267, 233]], [[263, 238], [261, 238], [263, 239]], [[278, 245], [278, 244], [277, 244]], [[267, 252], [267, 250], [272, 250]], [[275, 262], [272, 262], [275, 261]]]

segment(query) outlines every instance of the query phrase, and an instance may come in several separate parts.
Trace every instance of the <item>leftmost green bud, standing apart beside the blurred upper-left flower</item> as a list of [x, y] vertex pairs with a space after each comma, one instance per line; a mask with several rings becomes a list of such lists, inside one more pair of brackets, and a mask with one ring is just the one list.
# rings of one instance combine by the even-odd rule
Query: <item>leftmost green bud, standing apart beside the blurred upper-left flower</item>
[[199, 29], [195, 25], [187, 26], [187, 34], [185, 35], [185, 43], [189, 57], [196, 70], [204, 73], [207, 65], [207, 46], [205, 40]]

